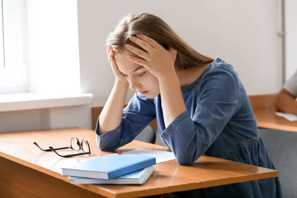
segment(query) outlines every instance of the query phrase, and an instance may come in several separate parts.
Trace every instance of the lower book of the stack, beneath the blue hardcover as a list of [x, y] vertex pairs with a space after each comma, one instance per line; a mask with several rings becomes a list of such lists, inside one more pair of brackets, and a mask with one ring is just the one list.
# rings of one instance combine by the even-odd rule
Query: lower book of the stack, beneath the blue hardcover
[[140, 185], [147, 181], [149, 176], [155, 170], [155, 165], [149, 166], [142, 170], [123, 175], [111, 180], [101, 180], [101, 179], [90, 179], [82, 177], [68, 177], [68, 179], [73, 179], [71, 184], [130, 184], [130, 185]]

